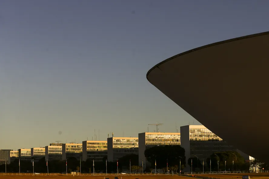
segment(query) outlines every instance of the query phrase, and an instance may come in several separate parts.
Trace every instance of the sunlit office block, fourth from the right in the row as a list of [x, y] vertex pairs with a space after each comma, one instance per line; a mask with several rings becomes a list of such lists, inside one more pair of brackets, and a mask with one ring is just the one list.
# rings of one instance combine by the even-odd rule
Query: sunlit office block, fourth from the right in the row
[[107, 141], [83, 141], [82, 142], [82, 159], [103, 161], [107, 156], [108, 143]]

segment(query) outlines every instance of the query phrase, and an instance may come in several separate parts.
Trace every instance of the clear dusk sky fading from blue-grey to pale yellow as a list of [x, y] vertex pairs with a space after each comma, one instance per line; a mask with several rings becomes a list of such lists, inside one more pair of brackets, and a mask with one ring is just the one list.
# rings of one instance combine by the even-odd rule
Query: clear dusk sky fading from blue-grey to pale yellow
[[268, 31], [268, 7], [266, 0], [1, 0], [0, 149], [81, 143], [94, 130], [97, 140], [111, 132], [138, 137], [156, 122], [160, 132], [200, 124], [146, 73], [186, 50]]

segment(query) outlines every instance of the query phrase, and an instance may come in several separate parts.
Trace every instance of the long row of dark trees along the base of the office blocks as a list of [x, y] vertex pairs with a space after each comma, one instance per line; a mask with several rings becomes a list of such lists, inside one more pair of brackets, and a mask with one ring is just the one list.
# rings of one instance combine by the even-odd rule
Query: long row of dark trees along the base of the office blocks
[[[155, 162], [157, 169], [163, 169], [167, 172], [167, 169], [174, 172], [179, 172], [183, 170], [188, 164], [192, 167], [192, 171], [249, 171], [249, 168], [264, 168], [268, 170], [268, 165], [262, 161], [254, 159], [253, 161], [245, 161], [244, 158], [236, 151], [224, 151], [224, 152], [215, 152], [210, 155], [209, 158], [203, 161], [199, 158], [193, 156], [188, 158], [186, 162], [185, 149], [180, 145], [164, 145], [164, 146], [153, 146], [147, 148], [144, 151], [144, 155], [147, 161], [147, 167], [144, 168], [145, 172], [151, 172], [152, 169], [155, 169]], [[107, 157], [104, 157], [102, 161], [95, 161], [94, 168], [95, 172], [106, 173], [116, 173], [117, 172], [117, 161], [115, 162], [106, 162]], [[131, 171], [132, 172], [141, 172], [142, 167], [138, 162], [138, 155], [131, 154], [125, 155], [124, 157], [118, 160], [118, 169], [119, 172], [122, 170], [129, 171], [130, 169], [130, 160], [131, 160]], [[191, 164], [192, 161], [192, 164]], [[48, 161], [48, 171], [49, 173], [61, 173], [66, 171], [66, 161], [61, 160], [52, 160]], [[226, 162], [226, 163], [225, 163]], [[211, 166], [210, 166], [211, 163]], [[67, 172], [71, 171], [80, 171], [83, 173], [92, 173], [93, 172], [93, 161], [81, 161], [77, 160], [75, 157], [67, 158]], [[32, 172], [33, 166], [32, 162], [29, 161], [20, 161], [20, 171], [21, 172]], [[34, 163], [34, 170], [39, 173], [47, 173], [47, 166], [45, 157], [41, 158], [39, 161]], [[5, 171], [5, 164], [0, 165], [0, 172]], [[7, 165], [7, 172], [19, 172], [19, 160], [15, 159], [11, 164]]]

